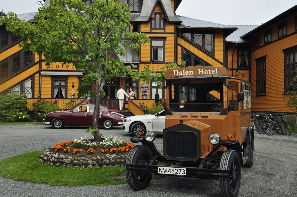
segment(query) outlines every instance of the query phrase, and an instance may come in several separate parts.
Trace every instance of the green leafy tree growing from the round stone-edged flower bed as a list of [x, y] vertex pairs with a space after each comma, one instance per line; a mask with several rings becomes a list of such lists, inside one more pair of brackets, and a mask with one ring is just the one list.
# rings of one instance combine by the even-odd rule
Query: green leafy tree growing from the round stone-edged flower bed
[[[23, 50], [43, 54], [46, 65], [52, 62], [73, 63], [76, 69], [85, 70], [83, 85], [94, 83], [95, 91], [91, 97], [97, 98], [92, 128], [87, 132], [91, 131], [95, 140], [101, 142], [98, 112], [105, 81], [113, 76], [129, 76], [133, 80], [149, 82], [151, 79], [161, 79], [165, 76], [167, 67], [177, 67], [177, 64], [165, 65], [162, 73], [155, 73], [150, 69], [131, 72], [123, 61], [112, 58], [108, 52], [124, 55], [126, 51], [119, 46], [120, 42], [124, 47], [137, 50], [140, 45], [149, 42], [149, 38], [144, 33], [125, 31], [131, 19], [127, 4], [119, 3], [119, 0], [87, 2], [88, 4], [82, 0], [51, 0], [47, 8], [38, 9], [36, 23], [24, 22], [13, 12], [8, 12], [7, 17], [0, 19], [0, 24], [5, 24], [8, 31], [24, 38], [20, 43]], [[87, 91], [83, 85], [78, 88], [80, 95]]]

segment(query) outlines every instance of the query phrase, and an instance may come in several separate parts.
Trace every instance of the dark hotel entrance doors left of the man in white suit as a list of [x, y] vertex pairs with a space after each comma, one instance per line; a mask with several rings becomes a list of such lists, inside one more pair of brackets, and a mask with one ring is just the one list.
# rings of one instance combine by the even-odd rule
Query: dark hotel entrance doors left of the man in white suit
[[118, 99], [116, 93], [118, 92], [119, 79], [111, 79], [103, 86], [106, 94], [105, 98], [101, 99], [101, 104], [107, 106], [109, 109], [118, 109]]

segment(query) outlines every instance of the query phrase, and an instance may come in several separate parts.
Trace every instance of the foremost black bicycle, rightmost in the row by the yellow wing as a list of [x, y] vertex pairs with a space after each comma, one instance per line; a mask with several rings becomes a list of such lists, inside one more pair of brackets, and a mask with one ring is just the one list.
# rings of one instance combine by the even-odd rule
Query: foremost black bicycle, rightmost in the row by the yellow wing
[[[280, 116], [280, 119], [278, 117]], [[278, 134], [291, 135], [294, 131], [294, 127], [291, 123], [285, 122], [283, 119], [285, 115], [274, 115], [274, 118], [270, 122], [263, 125], [263, 131], [266, 135], [273, 135], [276, 131]]]

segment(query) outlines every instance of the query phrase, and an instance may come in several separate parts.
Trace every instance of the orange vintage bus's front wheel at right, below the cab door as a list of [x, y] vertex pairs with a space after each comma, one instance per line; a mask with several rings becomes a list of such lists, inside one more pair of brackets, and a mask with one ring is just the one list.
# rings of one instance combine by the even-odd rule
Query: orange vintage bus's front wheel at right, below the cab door
[[222, 197], [236, 197], [240, 187], [240, 162], [235, 150], [226, 150], [221, 159], [220, 170], [230, 169], [230, 176], [219, 178]]

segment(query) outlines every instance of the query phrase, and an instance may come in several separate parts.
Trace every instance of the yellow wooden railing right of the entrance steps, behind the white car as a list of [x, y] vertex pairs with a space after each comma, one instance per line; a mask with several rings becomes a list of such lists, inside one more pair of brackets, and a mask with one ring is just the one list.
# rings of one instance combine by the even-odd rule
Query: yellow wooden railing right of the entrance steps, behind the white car
[[147, 105], [148, 108], [150, 109], [151, 107], [154, 106], [154, 99], [128, 99], [128, 109], [130, 112], [132, 112], [134, 115], [143, 115], [144, 110], [148, 109], [143, 109], [139, 105]]

